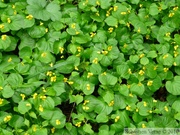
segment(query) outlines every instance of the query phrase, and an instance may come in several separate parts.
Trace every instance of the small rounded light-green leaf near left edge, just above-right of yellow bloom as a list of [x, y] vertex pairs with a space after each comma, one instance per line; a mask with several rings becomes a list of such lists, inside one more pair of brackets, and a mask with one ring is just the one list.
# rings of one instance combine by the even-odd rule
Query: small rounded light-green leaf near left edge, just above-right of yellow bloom
[[14, 95], [14, 90], [11, 88], [10, 85], [6, 85], [2, 90], [2, 96], [4, 98], [10, 98]]

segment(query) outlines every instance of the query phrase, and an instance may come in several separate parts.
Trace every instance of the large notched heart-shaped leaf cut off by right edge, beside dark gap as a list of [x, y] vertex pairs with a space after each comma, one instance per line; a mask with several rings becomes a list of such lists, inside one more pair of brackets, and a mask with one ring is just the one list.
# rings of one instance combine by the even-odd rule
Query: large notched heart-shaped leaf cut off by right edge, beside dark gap
[[167, 81], [165, 86], [169, 93], [180, 95], [180, 76], [175, 76], [173, 81]]

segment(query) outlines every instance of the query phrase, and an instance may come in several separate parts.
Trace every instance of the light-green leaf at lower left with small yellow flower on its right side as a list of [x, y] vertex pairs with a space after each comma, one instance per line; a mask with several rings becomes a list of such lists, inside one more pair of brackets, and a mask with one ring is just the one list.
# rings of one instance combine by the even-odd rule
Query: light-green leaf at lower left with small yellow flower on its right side
[[25, 114], [26, 112], [28, 112], [30, 109], [32, 108], [31, 104], [27, 101], [21, 101], [18, 104], [18, 111], [21, 114]]

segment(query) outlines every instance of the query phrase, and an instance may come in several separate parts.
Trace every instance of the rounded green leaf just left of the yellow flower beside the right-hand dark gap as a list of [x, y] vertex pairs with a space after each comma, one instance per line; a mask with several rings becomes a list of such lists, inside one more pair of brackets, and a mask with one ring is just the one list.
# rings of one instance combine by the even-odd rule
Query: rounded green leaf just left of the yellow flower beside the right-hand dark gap
[[133, 83], [130, 87], [130, 91], [136, 95], [142, 95], [145, 91], [145, 87], [143, 84], [139, 83]]

